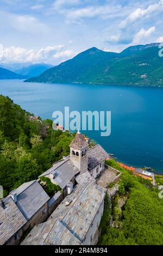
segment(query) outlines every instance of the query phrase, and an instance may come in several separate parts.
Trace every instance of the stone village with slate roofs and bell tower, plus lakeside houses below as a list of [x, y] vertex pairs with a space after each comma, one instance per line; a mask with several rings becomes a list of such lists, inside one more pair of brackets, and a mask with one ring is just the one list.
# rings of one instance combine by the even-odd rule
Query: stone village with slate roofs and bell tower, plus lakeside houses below
[[[89, 148], [89, 138], [78, 131], [69, 156], [2, 200], [0, 245], [96, 245], [105, 195], [121, 176], [105, 163], [111, 157], [99, 144]], [[121, 166], [154, 185], [149, 170]], [[57, 187], [51, 197], [46, 180]]]

